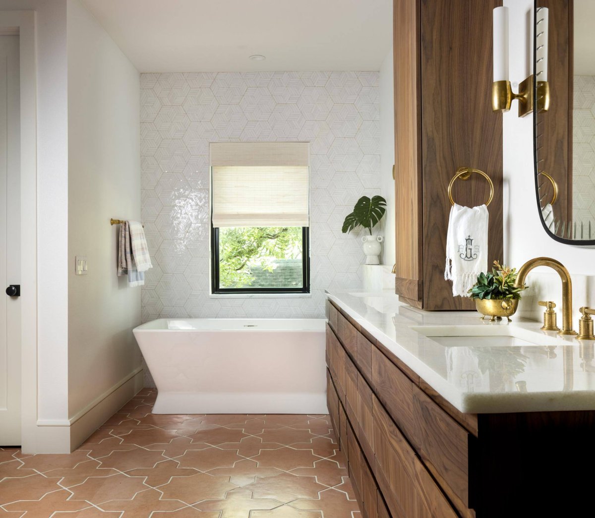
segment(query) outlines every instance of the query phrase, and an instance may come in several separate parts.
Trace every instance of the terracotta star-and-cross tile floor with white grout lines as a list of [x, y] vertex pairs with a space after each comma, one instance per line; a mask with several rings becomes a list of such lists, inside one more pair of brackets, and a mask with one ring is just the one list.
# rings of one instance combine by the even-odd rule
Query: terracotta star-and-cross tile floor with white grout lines
[[70, 455], [0, 448], [0, 517], [360, 518], [325, 415], [154, 415], [143, 389]]

